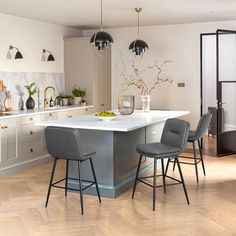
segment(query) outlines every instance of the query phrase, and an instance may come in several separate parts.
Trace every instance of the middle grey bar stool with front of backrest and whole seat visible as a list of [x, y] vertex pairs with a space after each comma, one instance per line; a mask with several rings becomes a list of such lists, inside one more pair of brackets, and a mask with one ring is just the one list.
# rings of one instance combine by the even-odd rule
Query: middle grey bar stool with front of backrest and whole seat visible
[[[183, 120], [179, 119], [168, 119], [165, 123], [161, 141], [158, 143], [148, 143], [148, 144], [140, 144], [137, 146], [137, 152], [140, 154], [139, 162], [138, 162], [138, 168], [135, 178], [135, 183], [133, 187], [133, 194], [132, 198], [134, 198], [135, 189], [137, 185], [137, 181], [140, 181], [150, 187], [153, 188], [153, 211], [155, 210], [155, 202], [156, 202], [156, 188], [158, 187], [164, 187], [164, 193], [166, 193], [166, 186], [170, 185], [176, 185], [176, 184], [182, 184], [185, 197], [187, 199], [187, 202], [189, 204], [188, 194], [186, 190], [186, 186], [184, 183], [183, 174], [181, 171], [181, 167], [179, 164], [178, 155], [182, 153], [182, 151], [185, 148], [187, 137], [189, 132], [189, 123]], [[154, 159], [154, 175], [153, 176], [145, 176], [145, 177], [139, 177], [139, 170], [140, 165], [142, 162], [142, 157], [150, 157]], [[176, 160], [176, 163], [178, 165], [179, 174], [180, 174], [180, 180], [172, 178], [167, 175], [164, 169], [164, 159], [174, 158]], [[161, 160], [161, 166], [162, 166], [162, 174], [156, 175], [156, 167], [157, 167], [157, 160]], [[169, 163], [169, 162], [168, 162]], [[168, 167], [167, 167], [168, 168]], [[156, 185], [156, 177], [162, 176], [163, 179], [163, 185]], [[165, 178], [169, 178], [174, 180], [174, 183], [166, 184]], [[143, 179], [147, 178], [153, 178], [153, 185], [143, 181]]]

